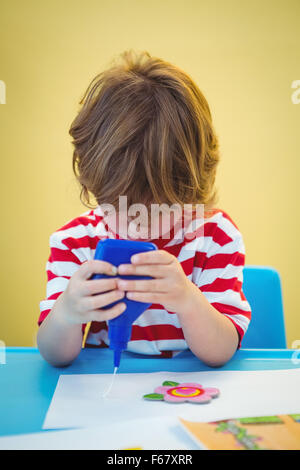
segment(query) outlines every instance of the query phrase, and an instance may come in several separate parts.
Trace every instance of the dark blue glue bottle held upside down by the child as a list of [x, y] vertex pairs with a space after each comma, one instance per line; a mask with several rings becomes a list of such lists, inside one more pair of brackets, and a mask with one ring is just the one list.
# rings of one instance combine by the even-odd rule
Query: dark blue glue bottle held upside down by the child
[[[157, 250], [157, 246], [151, 242], [105, 239], [97, 244], [94, 259], [107, 261], [118, 267], [120, 264], [130, 264], [131, 256], [136, 253]], [[106, 274], [93, 274], [90, 279], [110, 278]], [[149, 276], [116, 275], [121, 279], [151, 279]], [[137, 302], [127, 297], [117, 300], [103, 309], [113, 307], [118, 302], [124, 302], [126, 309], [118, 317], [108, 321], [109, 348], [114, 351], [114, 372], [120, 365], [121, 353], [127, 349], [127, 343], [131, 337], [133, 322], [150, 307], [151, 303]]]

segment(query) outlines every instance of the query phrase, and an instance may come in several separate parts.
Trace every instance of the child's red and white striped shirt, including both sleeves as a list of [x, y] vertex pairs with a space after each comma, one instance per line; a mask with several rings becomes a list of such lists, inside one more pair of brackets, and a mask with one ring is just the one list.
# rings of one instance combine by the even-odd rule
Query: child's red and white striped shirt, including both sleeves
[[[243, 293], [245, 246], [243, 237], [229, 215], [221, 209], [205, 213], [201, 236], [194, 239], [155, 239], [159, 249], [177, 257], [188, 277], [211, 305], [226, 315], [239, 334], [239, 347], [251, 319], [251, 308]], [[172, 235], [172, 232], [171, 232]], [[46, 263], [46, 297], [40, 302], [40, 325], [56, 299], [66, 289], [78, 267], [93, 259], [100, 239], [120, 238], [105, 223], [98, 206], [70, 220], [50, 235], [50, 256]], [[86, 325], [83, 325], [83, 332]], [[92, 322], [86, 347], [108, 347], [107, 322]], [[128, 351], [170, 356], [188, 349], [178, 316], [162, 305], [152, 304], [132, 325]]]

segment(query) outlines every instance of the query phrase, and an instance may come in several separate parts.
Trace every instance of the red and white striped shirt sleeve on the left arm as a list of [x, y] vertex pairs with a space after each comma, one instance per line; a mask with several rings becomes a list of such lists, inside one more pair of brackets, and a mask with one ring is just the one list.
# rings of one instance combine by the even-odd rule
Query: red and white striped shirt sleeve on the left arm
[[63, 243], [63, 232], [54, 232], [49, 238], [50, 255], [46, 262], [47, 286], [46, 295], [40, 301], [38, 325], [49, 315], [56, 299], [66, 289], [70, 278], [81, 265], [81, 261]]

